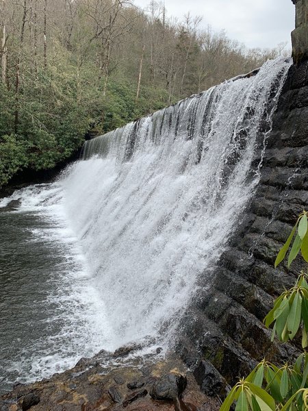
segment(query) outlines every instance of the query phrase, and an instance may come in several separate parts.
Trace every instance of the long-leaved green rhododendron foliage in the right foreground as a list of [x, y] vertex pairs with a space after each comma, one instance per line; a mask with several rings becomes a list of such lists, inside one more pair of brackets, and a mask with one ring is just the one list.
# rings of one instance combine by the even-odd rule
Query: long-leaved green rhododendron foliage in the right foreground
[[[297, 234], [296, 234], [297, 229]], [[285, 258], [296, 234], [288, 256], [288, 266], [298, 256], [307, 260], [307, 212], [303, 211], [296, 225], [279, 251], [275, 266]], [[264, 319], [266, 327], [272, 328], [272, 340], [292, 340], [302, 330], [302, 347], [308, 347], [308, 275], [300, 273], [294, 287], [283, 292]], [[245, 379], [240, 379], [222, 403], [220, 411], [229, 411], [236, 401], [235, 411], [304, 411], [308, 410], [308, 353], [298, 356], [294, 364], [280, 368], [266, 360], [261, 361]]]

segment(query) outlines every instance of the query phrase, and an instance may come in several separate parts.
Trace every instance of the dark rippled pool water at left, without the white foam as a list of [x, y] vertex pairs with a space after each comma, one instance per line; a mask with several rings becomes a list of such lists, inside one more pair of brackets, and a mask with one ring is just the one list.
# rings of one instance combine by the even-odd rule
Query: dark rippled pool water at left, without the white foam
[[[28, 347], [60, 327], [48, 321], [54, 305], [46, 301], [63, 258], [56, 244], [36, 240], [29, 227], [49, 225], [26, 212], [0, 212], [0, 374], [10, 369], [10, 379], [18, 377], [18, 363], [27, 362]], [[9, 388], [5, 379], [2, 389]]]

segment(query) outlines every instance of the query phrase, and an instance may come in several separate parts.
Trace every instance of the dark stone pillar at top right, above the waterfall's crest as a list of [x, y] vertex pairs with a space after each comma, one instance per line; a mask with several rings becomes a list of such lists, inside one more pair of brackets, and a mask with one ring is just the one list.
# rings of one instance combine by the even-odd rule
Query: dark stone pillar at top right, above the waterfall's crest
[[308, 0], [292, 0], [295, 4], [295, 30], [291, 33], [292, 57], [298, 64], [308, 59]]

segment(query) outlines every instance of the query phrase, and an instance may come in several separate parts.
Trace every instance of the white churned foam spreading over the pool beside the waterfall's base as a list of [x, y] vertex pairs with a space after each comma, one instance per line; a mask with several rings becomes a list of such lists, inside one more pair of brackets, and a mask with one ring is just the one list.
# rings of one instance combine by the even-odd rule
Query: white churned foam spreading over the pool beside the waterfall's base
[[[43, 283], [42, 290], [31, 290], [35, 284], [19, 288], [21, 282], [16, 281], [11, 298], [20, 301], [16, 310], [25, 314], [12, 318], [12, 302], [1, 301], [3, 356], [0, 356], [0, 371], [3, 384], [8, 388], [14, 382], [31, 382], [64, 371], [74, 366], [81, 356], [93, 356], [101, 347], [112, 348], [113, 338], [105, 304], [88, 271], [77, 238], [66, 223], [62, 184], [18, 190], [12, 197], [2, 199], [0, 207], [13, 199], [21, 201], [13, 211], [16, 216], [25, 219], [31, 215], [36, 219], [37, 227], [27, 228], [27, 247], [34, 250], [40, 247], [44, 253], [53, 253], [55, 263], [46, 270], [42, 262], [44, 256], [42, 260], [38, 258], [35, 275]], [[12, 258], [18, 259], [19, 253], [17, 246]], [[33, 258], [31, 253], [29, 258]], [[27, 277], [28, 273], [21, 270], [18, 275]], [[44, 292], [44, 288], [48, 291]], [[29, 297], [25, 301], [25, 293], [33, 293], [34, 299]], [[9, 325], [8, 321], [12, 323]], [[15, 327], [20, 332], [12, 333]], [[13, 352], [12, 344], [16, 346]], [[12, 358], [7, 358], [5, 352]]]

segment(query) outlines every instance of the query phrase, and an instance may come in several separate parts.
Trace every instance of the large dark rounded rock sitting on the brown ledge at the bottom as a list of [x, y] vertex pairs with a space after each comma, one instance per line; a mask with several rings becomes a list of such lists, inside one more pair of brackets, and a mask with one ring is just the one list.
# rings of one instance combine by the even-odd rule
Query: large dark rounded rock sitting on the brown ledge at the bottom
[[181, 374], [170, 373], [159, 378], [152, 386], [150, 395], [153, 399], [175, 399], [183, 393], [187, 379]]

